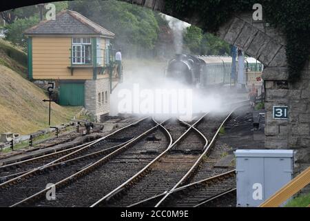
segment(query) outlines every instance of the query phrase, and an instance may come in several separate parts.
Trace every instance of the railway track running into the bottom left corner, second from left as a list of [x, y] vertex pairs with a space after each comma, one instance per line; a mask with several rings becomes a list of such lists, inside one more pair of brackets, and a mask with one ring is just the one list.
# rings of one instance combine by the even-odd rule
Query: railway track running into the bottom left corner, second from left
[[[46, 184], [55, 183], [69, 175], [81, 171], [85, 166], [93, 164], [107, 154], [116, 151], [123, 144], [133, 140], [138, 133], [143, 133], [154, 126], [149, 118], [143, 118], [132, 125], [111, 133], [87, 146], [54, 160], [43, 166], [39, 166], [32, 171], [15, 177], [3, 184], [0, 184], [0, 206], [10, 206], [23, 198], [37, 193], [38, 190], [45, 189]], [[135, 128], [135, 130], [133, 130]], [[130, 140], [123, 137], [131, 135]]]

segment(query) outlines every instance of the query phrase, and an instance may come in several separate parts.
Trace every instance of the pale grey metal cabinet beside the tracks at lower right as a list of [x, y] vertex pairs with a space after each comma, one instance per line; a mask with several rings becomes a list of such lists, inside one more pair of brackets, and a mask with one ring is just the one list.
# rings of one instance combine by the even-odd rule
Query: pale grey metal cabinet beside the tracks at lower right
[[292, 179], [292, 150], [237, 150], [237, 206], [259, 206]]

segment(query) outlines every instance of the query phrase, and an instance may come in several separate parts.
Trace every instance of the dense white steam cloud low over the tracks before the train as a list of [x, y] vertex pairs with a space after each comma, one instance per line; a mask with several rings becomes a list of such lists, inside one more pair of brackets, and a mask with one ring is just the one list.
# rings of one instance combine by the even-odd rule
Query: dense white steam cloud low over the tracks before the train
[[[156, 102], [156, 97], [146, 96], [146, 94], [156, 95], [156, 90], [182, 90], [183, 93], [179, 94], [178, 102], [176, 102], [176, 99], [169, 99], [168, 97], [171, 95], [169, 93], [163, 95], [164, 99], [169, 99], [169, 104], [167, 102], [163, 104], [163, 102]], [[191, 95], [186, 94], [189, 90], [192, 90]], [[124, 108], [120, 107], [124, 102], [130, 106], [128, 114], [154, 115], [156, 117], [173, 116], [190, 120], [192, 118], [191, 114], [195, 116], [196, 114], [209, 111], [224, 111], [223, 105], [227, 104], [227, 102], [232, 102], [232, 100], [227, 100], [227, 96], [223, 95], [223, 89], [208, 90], [206, 93], [205, 90], [186, 86], [178, 83], [178, 81], [165, 79], [161, 73], [154, 73], [152, 68], [142, 67], [141, 70], [135, 71], [131, 76], [124, 76], [123, 83], [118, 84], [113, 90], [110, 99], [110, 115], [124, 113]], [[145, 105], [148, 108], [145, 108]], [[161, 108], [161, 106], [163, 106], [163, 109], [169, 108], [170, 111], [177, 111], [167, 113], [162, 110], [158, 112], [158, 107]]]

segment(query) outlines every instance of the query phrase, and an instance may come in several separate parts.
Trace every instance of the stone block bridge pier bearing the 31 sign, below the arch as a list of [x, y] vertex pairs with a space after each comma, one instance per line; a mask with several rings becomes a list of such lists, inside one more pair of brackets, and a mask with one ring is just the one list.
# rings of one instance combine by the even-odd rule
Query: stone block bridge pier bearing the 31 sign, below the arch
[[[266, 148], [291, 148], [297, 151], [296, 160], [310, 163], [310, 66], [307, 61], [297, 82], [287, 81], [287, 68], [266, 68]], [[273, 105], [289, 107], [289, 119], [272, 117]]]

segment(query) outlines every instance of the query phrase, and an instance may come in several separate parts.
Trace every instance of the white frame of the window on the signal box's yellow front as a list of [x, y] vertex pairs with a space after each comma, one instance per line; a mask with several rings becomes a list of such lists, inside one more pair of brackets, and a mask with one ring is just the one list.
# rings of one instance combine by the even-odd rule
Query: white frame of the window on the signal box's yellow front
[[[86, 64], [85, 63], [85, 46], [92, 45], [91, 37], [72, 37], [72, 64]], [[77, 57], [77, 51], [74, 48], [81, 49], [81, 57]], [[92, 50], [90, 50], [92, 53]], [[76, 61], [76, 58], [81, 58], [79, 62]], [[74, 61], [75, 60], [75, 61]]]

